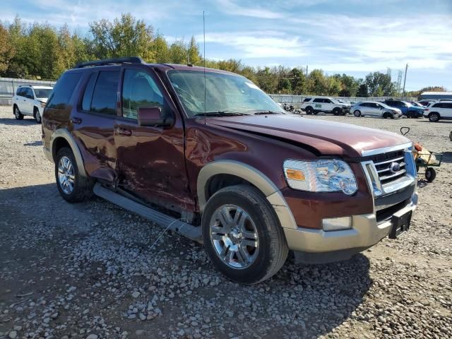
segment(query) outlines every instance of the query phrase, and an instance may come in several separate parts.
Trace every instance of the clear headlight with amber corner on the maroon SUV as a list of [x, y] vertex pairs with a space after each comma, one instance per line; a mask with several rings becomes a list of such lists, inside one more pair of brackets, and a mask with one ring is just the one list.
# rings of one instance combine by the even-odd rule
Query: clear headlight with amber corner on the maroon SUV
[[358, 190], [355, 174], [342, 160], [285, 160], [285, 179], [292, 189], [311, 192], [343, 191], [351, 196]]

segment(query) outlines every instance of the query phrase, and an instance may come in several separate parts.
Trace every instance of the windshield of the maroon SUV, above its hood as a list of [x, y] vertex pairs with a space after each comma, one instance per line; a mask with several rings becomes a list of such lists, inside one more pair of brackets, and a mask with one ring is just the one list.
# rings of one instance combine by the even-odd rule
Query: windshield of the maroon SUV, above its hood
[[204, 112], [254, 114], [284, 110], [254, 83], [225, 73], [206, 72], [206, 107], [204, 107], [204, 73], [200, 71], [169, 71], [177, 96], [189, 117]]

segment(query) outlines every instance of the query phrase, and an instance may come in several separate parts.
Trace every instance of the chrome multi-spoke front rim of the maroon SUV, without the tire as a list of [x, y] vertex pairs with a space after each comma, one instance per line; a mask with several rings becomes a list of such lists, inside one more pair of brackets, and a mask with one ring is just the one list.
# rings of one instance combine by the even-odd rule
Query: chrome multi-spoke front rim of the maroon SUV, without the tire
[[249, 267], [258, 255], [256, 225], [235, 205], [220, 206], [210, 220], [210, 241], [218, 257], [232, 268]]

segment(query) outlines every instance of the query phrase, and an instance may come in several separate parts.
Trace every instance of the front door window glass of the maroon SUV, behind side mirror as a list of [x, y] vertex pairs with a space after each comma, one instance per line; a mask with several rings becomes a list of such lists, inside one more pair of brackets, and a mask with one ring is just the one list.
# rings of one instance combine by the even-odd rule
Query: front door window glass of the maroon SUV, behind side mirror
[[167, 116], [169, 109], [153, 78], [139, 69], [126, 69], [122, 86], [122, 116], [138, 119], [138, 108], [155, 106], [162, 110], [162, 117]]

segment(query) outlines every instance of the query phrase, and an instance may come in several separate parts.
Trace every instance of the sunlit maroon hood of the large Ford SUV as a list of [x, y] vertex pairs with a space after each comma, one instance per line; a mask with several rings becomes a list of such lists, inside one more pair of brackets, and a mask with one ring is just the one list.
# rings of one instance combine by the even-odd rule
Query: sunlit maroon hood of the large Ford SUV
[[207, 123], [268, 138], [308, 145], [320, 155], [361, 157], [373, 150], [410, 143], [396, 133], [333, 121], [305, 119], [295, 115], [258, 115], [208, 118]]

